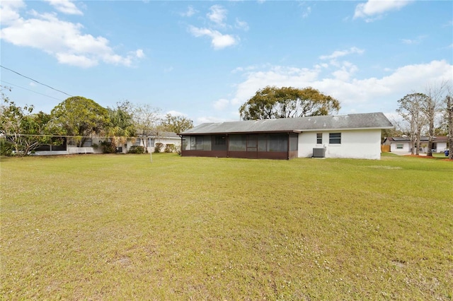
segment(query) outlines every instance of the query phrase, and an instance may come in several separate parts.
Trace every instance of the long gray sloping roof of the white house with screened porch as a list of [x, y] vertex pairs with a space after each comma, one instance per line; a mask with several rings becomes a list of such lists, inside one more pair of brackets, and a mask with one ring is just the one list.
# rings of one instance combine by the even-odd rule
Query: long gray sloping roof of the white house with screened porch
[[383, 113], [260, 119], [242, 122], [205, 123], [181, 135], [328, 131], [338, 129], [391, 129]]

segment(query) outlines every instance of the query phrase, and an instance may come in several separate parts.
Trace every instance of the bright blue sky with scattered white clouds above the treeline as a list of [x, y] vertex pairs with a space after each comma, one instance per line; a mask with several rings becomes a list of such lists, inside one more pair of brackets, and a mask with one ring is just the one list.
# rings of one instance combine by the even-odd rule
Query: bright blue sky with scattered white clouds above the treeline
[[80, 95], [237, 121], [266, 86], [313, 87], [339, 114], [396, 115], [453, 80], [453, 1], [0, 2], [1, 85], [17, 105]]

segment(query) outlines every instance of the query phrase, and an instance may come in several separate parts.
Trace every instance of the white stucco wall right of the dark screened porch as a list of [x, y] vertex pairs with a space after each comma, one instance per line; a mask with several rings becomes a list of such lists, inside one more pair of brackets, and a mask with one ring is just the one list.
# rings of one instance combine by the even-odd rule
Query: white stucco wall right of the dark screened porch
[[[323, 143], [316, 144], [316, 134], [322, 133]], [[329, 133], [341, 133], [341, 144], [329, 144]], [[306, 131], [299, 134], [299, 158], [309, 158], [313, 148], [326, 148], [326, 158], [381, 158], [381, 130]]]

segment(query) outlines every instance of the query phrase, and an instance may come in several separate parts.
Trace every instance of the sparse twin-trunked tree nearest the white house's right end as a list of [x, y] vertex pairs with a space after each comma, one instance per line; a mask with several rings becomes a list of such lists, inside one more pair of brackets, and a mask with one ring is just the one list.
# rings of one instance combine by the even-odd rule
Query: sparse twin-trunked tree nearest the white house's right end
[[421, 105], [426, 102], [428, 96], [423, 93], [412, 93], [398, 100], [399, 107], [396, 112], [403, 117], [409, 124], [408, 134], [411, 138], [413, 148], [411, 154], [420, 154], [420, 136], [423, 126], [425, 125], [425, 115], [421, 111]]

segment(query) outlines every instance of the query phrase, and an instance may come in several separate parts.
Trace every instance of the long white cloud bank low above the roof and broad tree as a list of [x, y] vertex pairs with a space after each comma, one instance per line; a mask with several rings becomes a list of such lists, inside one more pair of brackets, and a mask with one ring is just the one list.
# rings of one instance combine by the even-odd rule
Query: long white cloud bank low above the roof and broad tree
[[237, 110], [239, 105], [267, 85], [296, 88], [311, 86], [340, 100], [343, 112], [373, 112], [379, 110], [384, 102], [396, 104], [398, 99], [414, 89], [425, 87], [427, 83], [451, 80], [453, 65], [442, 60], [402, 66], [382, 78], [352, 78], [357, 66], [348, 62], [343, 62], [343, 66], [334, 71], [331, 77], [321, 78], [322, 70], [321, 66], [315, 65], [313, 69], [272, 66], [268, 70], [248, 71], [244, 73], [246, 80], [236, 85], [230, 105]]

